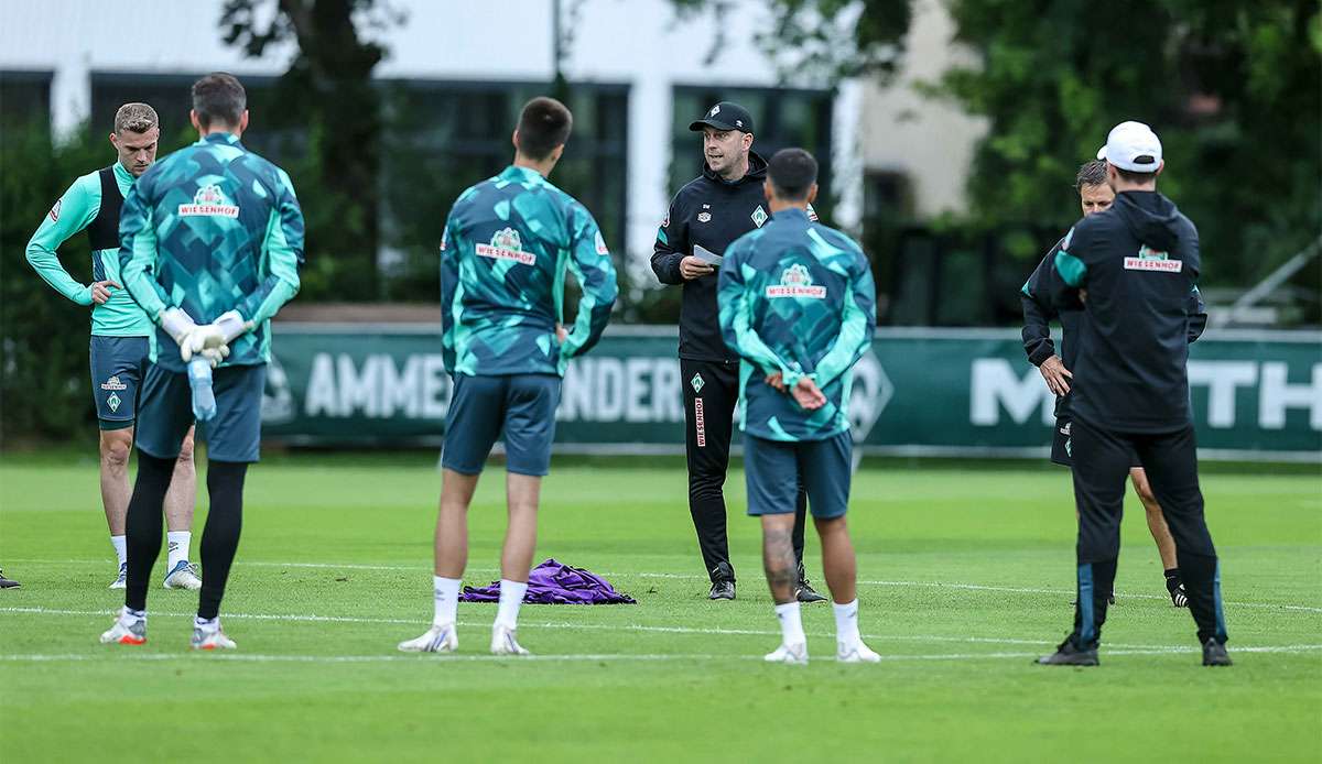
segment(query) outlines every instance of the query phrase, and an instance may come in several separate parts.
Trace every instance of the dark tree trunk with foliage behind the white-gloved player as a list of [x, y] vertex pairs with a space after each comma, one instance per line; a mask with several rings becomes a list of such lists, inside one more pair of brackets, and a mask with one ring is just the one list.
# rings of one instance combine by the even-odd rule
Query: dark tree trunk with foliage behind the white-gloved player
[[[270, 16], [268, 21], [262, 21]], [[360, 30], [402, 24], [382, 0], [226, 0], [225, 42], [260, 57], [293, 41], [270, 128], [305, 128], [307, 161], [292, 172], [308, 222], [308, 296], [373, 300], [377, 274], [381, 94], [371, 73], [386, 49]]]

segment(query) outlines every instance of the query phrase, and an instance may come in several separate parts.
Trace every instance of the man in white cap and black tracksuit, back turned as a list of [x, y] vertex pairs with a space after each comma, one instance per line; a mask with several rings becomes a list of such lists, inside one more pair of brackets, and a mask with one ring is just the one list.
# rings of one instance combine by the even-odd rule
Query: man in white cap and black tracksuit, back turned
[[1054, 303], [1083, 311], [1071, 386], [1077, 601], [1073, 630], [1038, 662], [1097, 665], [1120, 556], [1125, 476], [1137, 452], [1175, 538], [1203, 665], [1228, 666], [1220, 570], [1203, 517], [1188, 403], [1198, 230], [1157, 193], [1162, 145], [1151, 128], [1124, 122], [1103, 151], [1116, 201], [1075, 223], [1054, 260]]

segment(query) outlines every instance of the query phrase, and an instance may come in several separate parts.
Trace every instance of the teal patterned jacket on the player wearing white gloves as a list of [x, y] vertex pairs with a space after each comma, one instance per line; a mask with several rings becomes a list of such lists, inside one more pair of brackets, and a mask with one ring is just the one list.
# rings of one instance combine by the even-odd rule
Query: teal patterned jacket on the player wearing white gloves
[[[254, 329], [222, 366], [271, 360], [271, 316], [297, 293], [303, 263], [303, 210], [283, 169], [213, 132], [137, 178], [119, 242], [124, 288], [152, 321], [175, 307], [198, 325], [238, 311]], [[178, 345], [156, 332], [152, 361], [182, 371]]]

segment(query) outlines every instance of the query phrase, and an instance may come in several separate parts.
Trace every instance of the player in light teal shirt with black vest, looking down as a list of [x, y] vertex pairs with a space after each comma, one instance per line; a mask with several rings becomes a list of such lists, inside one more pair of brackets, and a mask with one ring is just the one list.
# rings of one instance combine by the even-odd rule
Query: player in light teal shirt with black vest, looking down
[[[128, 571], [124, 516], [128, 512], [128, 452], [134, 448], [137, 398], [153, 342], [152, 321], [124, 291], [119, 275], [119, 210], [130, 186], [156, 161], [160, 120], [145, 103], [126, 103], [115, 112], [110, 143], [119, 160], [87, 173], [50, 208], [28, 242], [28, 263], [66, 299], [91, 307], [91, 391], [100, 424], [100, 501], [110, 526], [110, 545], [118, 558], [112, 590], [124, 588]], [[86, 287], [59, 264], [56, 250], [87, 231], [91, 243], [93, 283]], [[193, 539], [193, 504], [197, 471], [193, 432], [189, 431], [175, 463], [173, 488], [165, 497], [169, 562], [165, 588], [197, 590], [202, 582], [188, 562]]]

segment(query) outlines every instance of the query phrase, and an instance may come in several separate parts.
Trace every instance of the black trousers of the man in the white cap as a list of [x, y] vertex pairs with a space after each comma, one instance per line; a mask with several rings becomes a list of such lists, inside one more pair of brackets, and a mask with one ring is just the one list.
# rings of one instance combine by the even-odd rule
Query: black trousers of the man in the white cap
[[1073, 485], [1079, 508], [1079, 603], [1071, 638], [1096, 646], [1107, 621], [1107, 599], [1120, 558], [1120, 517], [1132, 455], [1137, 453], [1175, 539], [1179, 575], [1198, 640], [1225, 641], [1220, 568], [1203, 518], [1194, 427], [1162, 434], [1122, 434], [1073, 420]]

